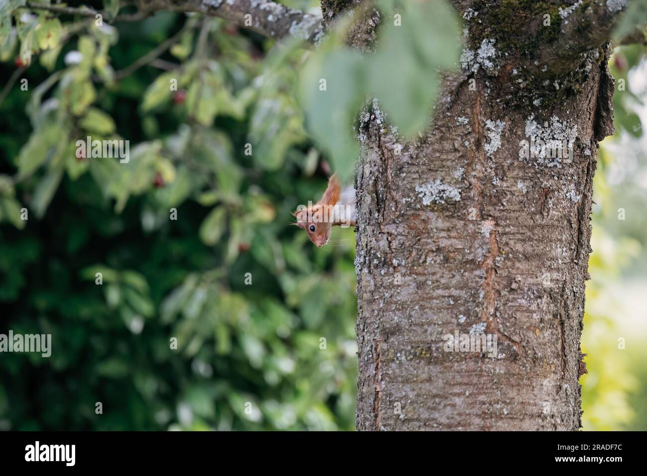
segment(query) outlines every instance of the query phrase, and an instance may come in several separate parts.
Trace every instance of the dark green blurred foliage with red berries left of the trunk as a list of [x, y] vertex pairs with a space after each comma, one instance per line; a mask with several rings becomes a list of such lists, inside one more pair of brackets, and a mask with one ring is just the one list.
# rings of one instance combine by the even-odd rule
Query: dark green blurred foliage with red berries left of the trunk
[[330, 173], [303, 50], [197, 15], [0, 17], [1, 77], [28, 66], [0, 106], [0, 332], [52, 334], [3, 354], [0, 429], [353, 429], [353, 232], [289, 226]]

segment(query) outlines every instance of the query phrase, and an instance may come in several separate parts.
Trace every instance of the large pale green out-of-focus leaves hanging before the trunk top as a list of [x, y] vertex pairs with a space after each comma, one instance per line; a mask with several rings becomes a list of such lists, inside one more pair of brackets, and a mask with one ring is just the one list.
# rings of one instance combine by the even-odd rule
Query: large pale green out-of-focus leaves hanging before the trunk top
[[362, 102], [377, 98], [389, 122], [411, 138], [430, 123], [442, 70], [455, 69], [461, 25], [445, 1], [378, 0], [383, 18], [372, 54], [347, 47], [356, 9], [338, 21], [303, 71], [300, 100], [309, 131], [333, 160], [340, 177], [353, 175], [358, 147], [353, 122]]

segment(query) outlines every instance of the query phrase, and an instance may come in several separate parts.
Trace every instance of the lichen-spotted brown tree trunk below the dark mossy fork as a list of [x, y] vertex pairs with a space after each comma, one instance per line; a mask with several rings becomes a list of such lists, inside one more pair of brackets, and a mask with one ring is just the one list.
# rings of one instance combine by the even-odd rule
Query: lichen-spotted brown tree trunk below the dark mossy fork
[[[413, 142], [378, 102], [362, 115], [357, 429], [580, 427], [592, 180], [613, 129], [607, 54], [542, 76], [508, 51], [496, 72], [446, 76]], [[573, 140], [572, 159], [520, 158], [531, 135]], [[456, 334], [494, 347], [465, 351]]]

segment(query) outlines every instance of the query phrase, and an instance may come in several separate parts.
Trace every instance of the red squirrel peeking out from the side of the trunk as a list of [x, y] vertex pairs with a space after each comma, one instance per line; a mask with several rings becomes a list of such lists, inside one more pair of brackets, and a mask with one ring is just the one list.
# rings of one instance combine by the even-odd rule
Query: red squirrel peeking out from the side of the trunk
[[308, 206], [299, 205], [292, 215], [296, 217], [295, 224], [321, 248], [328, 243], [333, 226], [355, 226], [355, 189], [351, 186], [342, 189], [335, 173], [328, 180], [321, 200], [314, 205], [313, 202], [308, 202]]

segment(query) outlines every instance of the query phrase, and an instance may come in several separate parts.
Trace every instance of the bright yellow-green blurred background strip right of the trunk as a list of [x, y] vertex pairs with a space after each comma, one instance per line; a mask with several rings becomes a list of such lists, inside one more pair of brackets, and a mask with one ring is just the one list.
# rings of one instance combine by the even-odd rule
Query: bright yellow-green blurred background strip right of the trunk
[[602, 143], [593, 179], [593, 253], [582, 333], [588, 374], [580, 379], [585, 430], [647, 428], [647, 182], [640, 182], [647, 173], [647, 82], [639, 78], [645, 52], [639, 45], [621, 47], [609, 62], [617, 133]]

